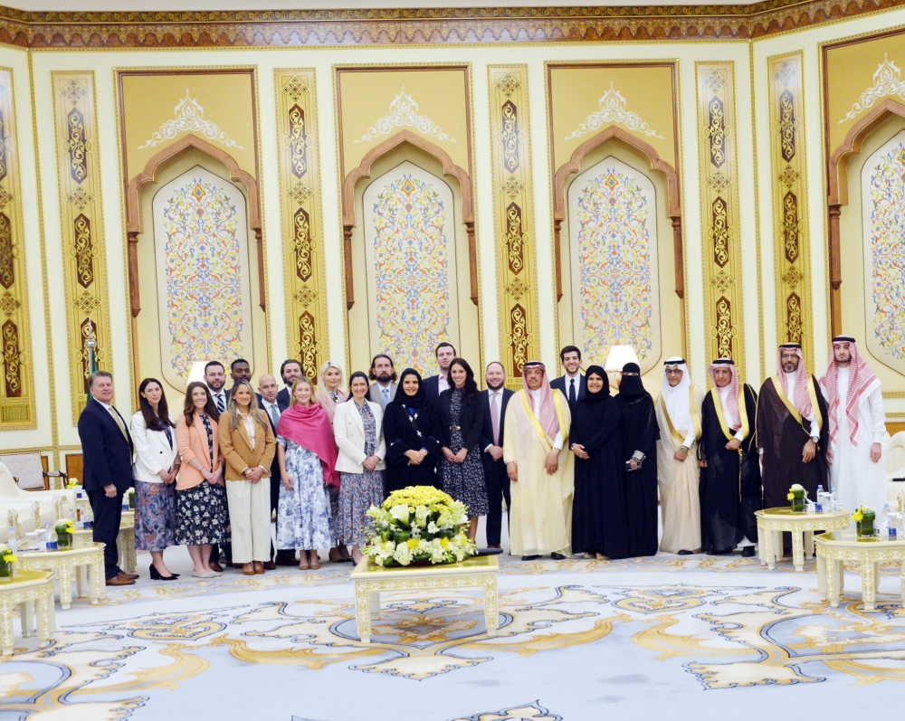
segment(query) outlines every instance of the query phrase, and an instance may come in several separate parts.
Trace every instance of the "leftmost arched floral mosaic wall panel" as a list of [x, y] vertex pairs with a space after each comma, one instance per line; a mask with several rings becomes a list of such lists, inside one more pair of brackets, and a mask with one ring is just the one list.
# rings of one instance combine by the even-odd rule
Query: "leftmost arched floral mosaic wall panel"
[[164, 207], [170, 363], [241, 355], [243, 269], [236, 209], [222, 188], [193, 179]]

